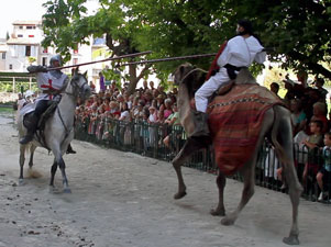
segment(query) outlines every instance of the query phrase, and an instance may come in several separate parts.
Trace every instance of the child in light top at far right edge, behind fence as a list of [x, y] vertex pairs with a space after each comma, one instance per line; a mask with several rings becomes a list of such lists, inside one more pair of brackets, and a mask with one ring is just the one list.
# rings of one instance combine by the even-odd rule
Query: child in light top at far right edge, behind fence
[[322, 149], [323, 166], [316, 176], [318, 186], [321, 189], [318, 201], [329, 197], [329, 191], [326, 191], [324, 184], [330, 183], [331, 180], [331, 132], [324, 134], [324, 145]]

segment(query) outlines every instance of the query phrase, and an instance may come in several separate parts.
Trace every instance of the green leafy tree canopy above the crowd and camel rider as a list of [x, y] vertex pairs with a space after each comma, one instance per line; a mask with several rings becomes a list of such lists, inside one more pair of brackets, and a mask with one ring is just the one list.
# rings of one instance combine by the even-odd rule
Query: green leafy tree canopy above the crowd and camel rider
[[[70, 48], [103, 34], [112, 55], [153, 50], [146, 58], [159, 58], [216, 53], [235, 35], [238, 20], [250, 19], [264, 46], [274, 48], [273, 61], [284, 69], [331, 78], [330, 0], [99, 0], [101, 8], [90, 16], [85, 2], [45, 3], [43, 45], [57, 46], [66, 59]], [[208, 69], [211, 59], [187, 61]], [[150, 72], [166, 78], [181, 63], [158, 63]], [[256, 75], [261, 69], [252, 71]], [[133, 70], [131, 82], [132, 78], [137, 78]]]

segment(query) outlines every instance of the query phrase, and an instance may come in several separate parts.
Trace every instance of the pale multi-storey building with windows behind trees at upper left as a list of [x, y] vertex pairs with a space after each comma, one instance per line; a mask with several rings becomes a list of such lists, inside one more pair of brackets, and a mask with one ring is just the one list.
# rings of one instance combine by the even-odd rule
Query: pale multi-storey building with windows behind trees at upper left
[[[24, 72], [31, 64], [49, 64], [55, 55], [55, 48], [42, 47], [43, 31], [41, 21], [15, 21], [13, 32], [7, 41], [0, 40], [0, 71]], [[90, 45], [81, 45], [77, 50], [71, 50], [71, 59], [66, 65], [76, 65], [91, 60], [104, 59], [104, 38], [90, 38]], [[96, 55], [97, 54], [97, 55]], [[88, 71], [88, 79], [97, 82], [99, 72], [104, 68], [102, 64], [81, 67]], [[70, 69], [64, 70], [70, 72]]]

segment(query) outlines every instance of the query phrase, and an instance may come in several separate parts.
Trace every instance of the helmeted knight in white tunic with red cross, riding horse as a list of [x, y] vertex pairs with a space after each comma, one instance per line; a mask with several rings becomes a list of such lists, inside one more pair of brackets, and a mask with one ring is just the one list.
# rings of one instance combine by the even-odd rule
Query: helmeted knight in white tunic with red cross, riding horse
[[[49, 60], [48, 68], [60, 67], [62, 59], [59, 55], [55, 55]], [[59, 69], [49, 70], [44, 66], [29, 66], [29, 72], [36, 72], [37, 87], [42, 90], [36, 99], [36, 106], [32, 113], [31, 124], [27, 126], [27, 134], [20, 139], [20, 144], [27, 144], [33, 139], [33, 135], [37, 128], [37, 123], [41, 115], [49, 106], [49, 101], [55, 100], [60, 90], [68, 81], [68, 76]]]

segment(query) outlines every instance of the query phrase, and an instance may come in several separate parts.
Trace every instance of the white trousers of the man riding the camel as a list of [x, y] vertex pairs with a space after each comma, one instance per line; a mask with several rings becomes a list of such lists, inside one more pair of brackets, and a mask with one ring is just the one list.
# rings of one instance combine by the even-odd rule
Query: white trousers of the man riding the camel
[[199, 112], [206, 112], [208, 106], [208, 98], [219, 89], [219, 87], [230, 81], [225, 68], [220, 68], [220, 71], [210, 77], [199, 89], [196, 91], [195, 100], [196, 108]]

